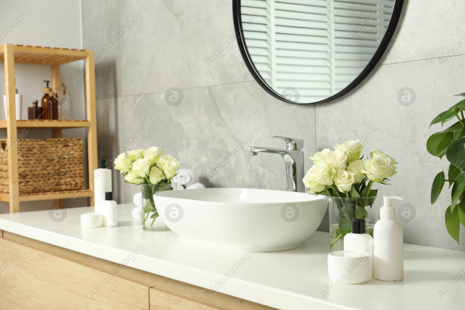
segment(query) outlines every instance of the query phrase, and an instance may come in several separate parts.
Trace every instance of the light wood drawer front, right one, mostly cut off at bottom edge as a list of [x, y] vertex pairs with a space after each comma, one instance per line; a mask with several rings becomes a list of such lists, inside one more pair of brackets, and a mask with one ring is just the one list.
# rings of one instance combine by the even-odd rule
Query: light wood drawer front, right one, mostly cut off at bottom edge
[[219, 310], [153, 288], [149, 291], [151, 310]]

